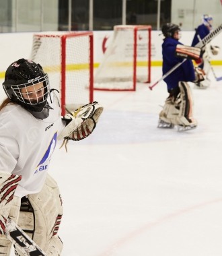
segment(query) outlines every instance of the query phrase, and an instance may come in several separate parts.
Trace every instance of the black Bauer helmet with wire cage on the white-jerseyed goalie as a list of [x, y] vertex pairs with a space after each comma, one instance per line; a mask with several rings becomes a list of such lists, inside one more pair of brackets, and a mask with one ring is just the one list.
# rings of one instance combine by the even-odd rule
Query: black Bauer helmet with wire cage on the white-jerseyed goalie
[[11, 101], [28, 110], [41, 112], [47, 104], [48, 75], [40, 64], [19, 59], [7, 68], [3, 88]]

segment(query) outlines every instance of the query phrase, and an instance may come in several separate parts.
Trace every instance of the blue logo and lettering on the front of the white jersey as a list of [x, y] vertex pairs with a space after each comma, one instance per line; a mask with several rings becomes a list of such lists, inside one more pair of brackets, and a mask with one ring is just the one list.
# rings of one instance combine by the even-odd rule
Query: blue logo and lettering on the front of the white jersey
[[40, 172], [42, 170], [47, 170], [48, 168], [48, 164], [50, 162], [50, 158], [52, 156], [52, 153], [54, 152], [54, 148], [57, 145], [57, 133], [54, 133], [49, 146], [44, 154], [44, 156], [42, 157], [42, 160], [40, 160], [34, 174], [36, 174], [37, 172]]

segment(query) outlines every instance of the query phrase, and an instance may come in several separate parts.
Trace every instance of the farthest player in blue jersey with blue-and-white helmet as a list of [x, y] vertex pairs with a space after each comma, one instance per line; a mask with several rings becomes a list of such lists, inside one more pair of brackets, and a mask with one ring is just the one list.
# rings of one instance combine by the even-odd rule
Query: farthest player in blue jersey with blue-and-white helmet
[[[202, 24], [200, 24], [197, 28], [195, 28], [194, 38], [192, 40], [191, 46], [195, 46], [207, 36], [213, 28], [213, 18], [209, 14], [202, 15]], [[203, 82], [195, 83], [198, 88], [207, 88], [211, 81], [209, 79], [209, 72], [211, 71], [211, 57], [212, 55], [217, 55], [219, 53], [219, 46], [213, 46], [211, 44], [207, 44], [205, 49], [203, 49], [200, 58], [196, 60], [196, 64], [198, 67], [203, 69], [206, 74], [206, 79]]]

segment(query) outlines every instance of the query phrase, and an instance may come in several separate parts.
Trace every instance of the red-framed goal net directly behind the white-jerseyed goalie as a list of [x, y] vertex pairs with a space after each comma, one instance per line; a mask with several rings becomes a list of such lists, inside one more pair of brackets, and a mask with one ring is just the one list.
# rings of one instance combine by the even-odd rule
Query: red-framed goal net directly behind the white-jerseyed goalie
[[93, 101], [93, 34], [34, 34], [31, 59], [48, 73], [50, 88], [59, 90], [62, 115]]

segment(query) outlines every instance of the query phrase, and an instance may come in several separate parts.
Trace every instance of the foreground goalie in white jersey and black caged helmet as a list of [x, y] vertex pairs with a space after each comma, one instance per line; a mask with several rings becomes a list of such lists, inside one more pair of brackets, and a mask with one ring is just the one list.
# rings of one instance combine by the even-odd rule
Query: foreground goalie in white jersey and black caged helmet
[[50, 158], [57, 139], [90, 135], [103, 108], [92, 102], [61, 117], [48, 75], [26, 59], [9, 65], [3, 88], [7, 98], [0, 106], [0, 255], [10, 255], [11, 242], [5, 236], [10, 218], [46, 255], [59, 256], [63, 205], [57, 182], [48, 174]]

